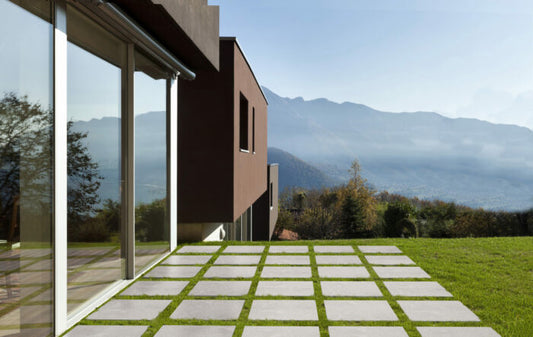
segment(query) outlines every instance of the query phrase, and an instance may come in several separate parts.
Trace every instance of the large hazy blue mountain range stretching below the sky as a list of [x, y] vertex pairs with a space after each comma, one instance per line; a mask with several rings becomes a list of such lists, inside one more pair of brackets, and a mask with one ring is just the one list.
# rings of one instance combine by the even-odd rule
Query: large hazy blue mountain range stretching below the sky
[[533, 206], [533, 131], [433, 112], [283, 98], [269, 101], [269, 146], [347, 179], [357, 158], [378, 190], [490, 209]]

